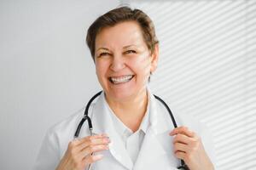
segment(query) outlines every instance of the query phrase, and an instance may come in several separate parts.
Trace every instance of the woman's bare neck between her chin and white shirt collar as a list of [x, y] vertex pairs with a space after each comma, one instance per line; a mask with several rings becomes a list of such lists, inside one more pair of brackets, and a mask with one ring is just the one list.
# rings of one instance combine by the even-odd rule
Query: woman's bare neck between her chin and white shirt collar
[[106, 96], [106, 100], [109, 107], [119, 120], [133, 132], [136, 132], [147, 111], [147, 90], [144, 89], [141, 93], [137, 94], [137, 96], [125, 101], [113, 101], [108, 99], [108, 96]]

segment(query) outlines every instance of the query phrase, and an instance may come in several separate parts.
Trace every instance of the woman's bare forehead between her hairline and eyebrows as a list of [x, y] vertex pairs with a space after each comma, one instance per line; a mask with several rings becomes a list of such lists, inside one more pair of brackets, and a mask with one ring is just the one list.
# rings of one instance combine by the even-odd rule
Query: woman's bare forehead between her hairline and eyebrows
[[143, 31], [137, 21], [124, 21], [115, 26], [103, 28], [96, 36], [96, 48], [131, 44], [146, 45]]

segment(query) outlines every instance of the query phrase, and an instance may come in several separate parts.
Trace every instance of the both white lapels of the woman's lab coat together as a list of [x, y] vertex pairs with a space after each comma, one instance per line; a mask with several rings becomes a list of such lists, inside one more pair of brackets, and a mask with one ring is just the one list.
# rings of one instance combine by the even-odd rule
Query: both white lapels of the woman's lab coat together
[[[110, 114], [108, 114], [108, 104], [103, 93], [96, 101], [91, 112], [94, 133], [108, 134], [111, 139], [111, 144], [109, 145], [111, 155], [127, 169], [145, 169], [145, 166], [154, 167], [164, 162], [171, 162], [173, 166], [176, 166], [178, 162], [172, 154], [172, 137], [168, 135], [173, 129], [172, 120], [166, 109], [163, 108], [164, 106], [160, 105], [149, 90], [148, 95], [150, 102], [150, 125], [143, 139], [143, 144], [135, 164], [131, 161], [122, 139], [119, 138], [118, 133], [113, 127], [113, 121]], [[164, 159], [159, 159], [160, 157]]]

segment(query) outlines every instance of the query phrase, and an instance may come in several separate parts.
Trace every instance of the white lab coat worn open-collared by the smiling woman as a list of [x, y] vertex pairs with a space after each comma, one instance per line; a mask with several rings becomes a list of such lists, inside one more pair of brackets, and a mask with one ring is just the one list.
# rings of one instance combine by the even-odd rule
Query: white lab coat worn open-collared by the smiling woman
[[[111, 139], [109, 150], [102, 151], [104, 156], [101, 161], [92, 164], [91, 170], [173, 170], [177, 169], [180, 161], [173, 155], [172, 139], [169, 133], [173, 129], [172, 119], [164, 105], [154, 98], [150, 92], [150, 126], [143, 139], [141, 150], [137, 156], [137, 161], [133, 163], [125, 151], [125, 146], [118, 133], [115, 131], [108, 108], [104, 105], [104, 94], [90, 106], [89, 115], [91, 117], [94, 133], [107, 133]], [[73, 134], [84, 115], [84, 109], [50, 128], [45, 136], [41, 150], [36, 161], [35, 170], [55, 169], [64, 156], [69, 141], [73, 140]], [[214, 147], [212, 138], [206, 127], [196, 122], [189, 115], [174, 114], [177, 125], [187, 126], [201, 136], [208, 156], [214, 160]], [[88, 136], [89, 130], [87, 122], [79, 134], [80, 137]]]

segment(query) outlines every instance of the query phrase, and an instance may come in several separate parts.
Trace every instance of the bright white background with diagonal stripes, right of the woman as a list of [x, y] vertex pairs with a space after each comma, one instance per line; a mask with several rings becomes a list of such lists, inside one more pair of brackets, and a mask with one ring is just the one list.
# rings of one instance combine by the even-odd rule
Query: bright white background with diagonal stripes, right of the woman
[[256, 169], [256, 1], [121, 1], [154, 20], [150, 87], [212, 131], [216, 169]]

